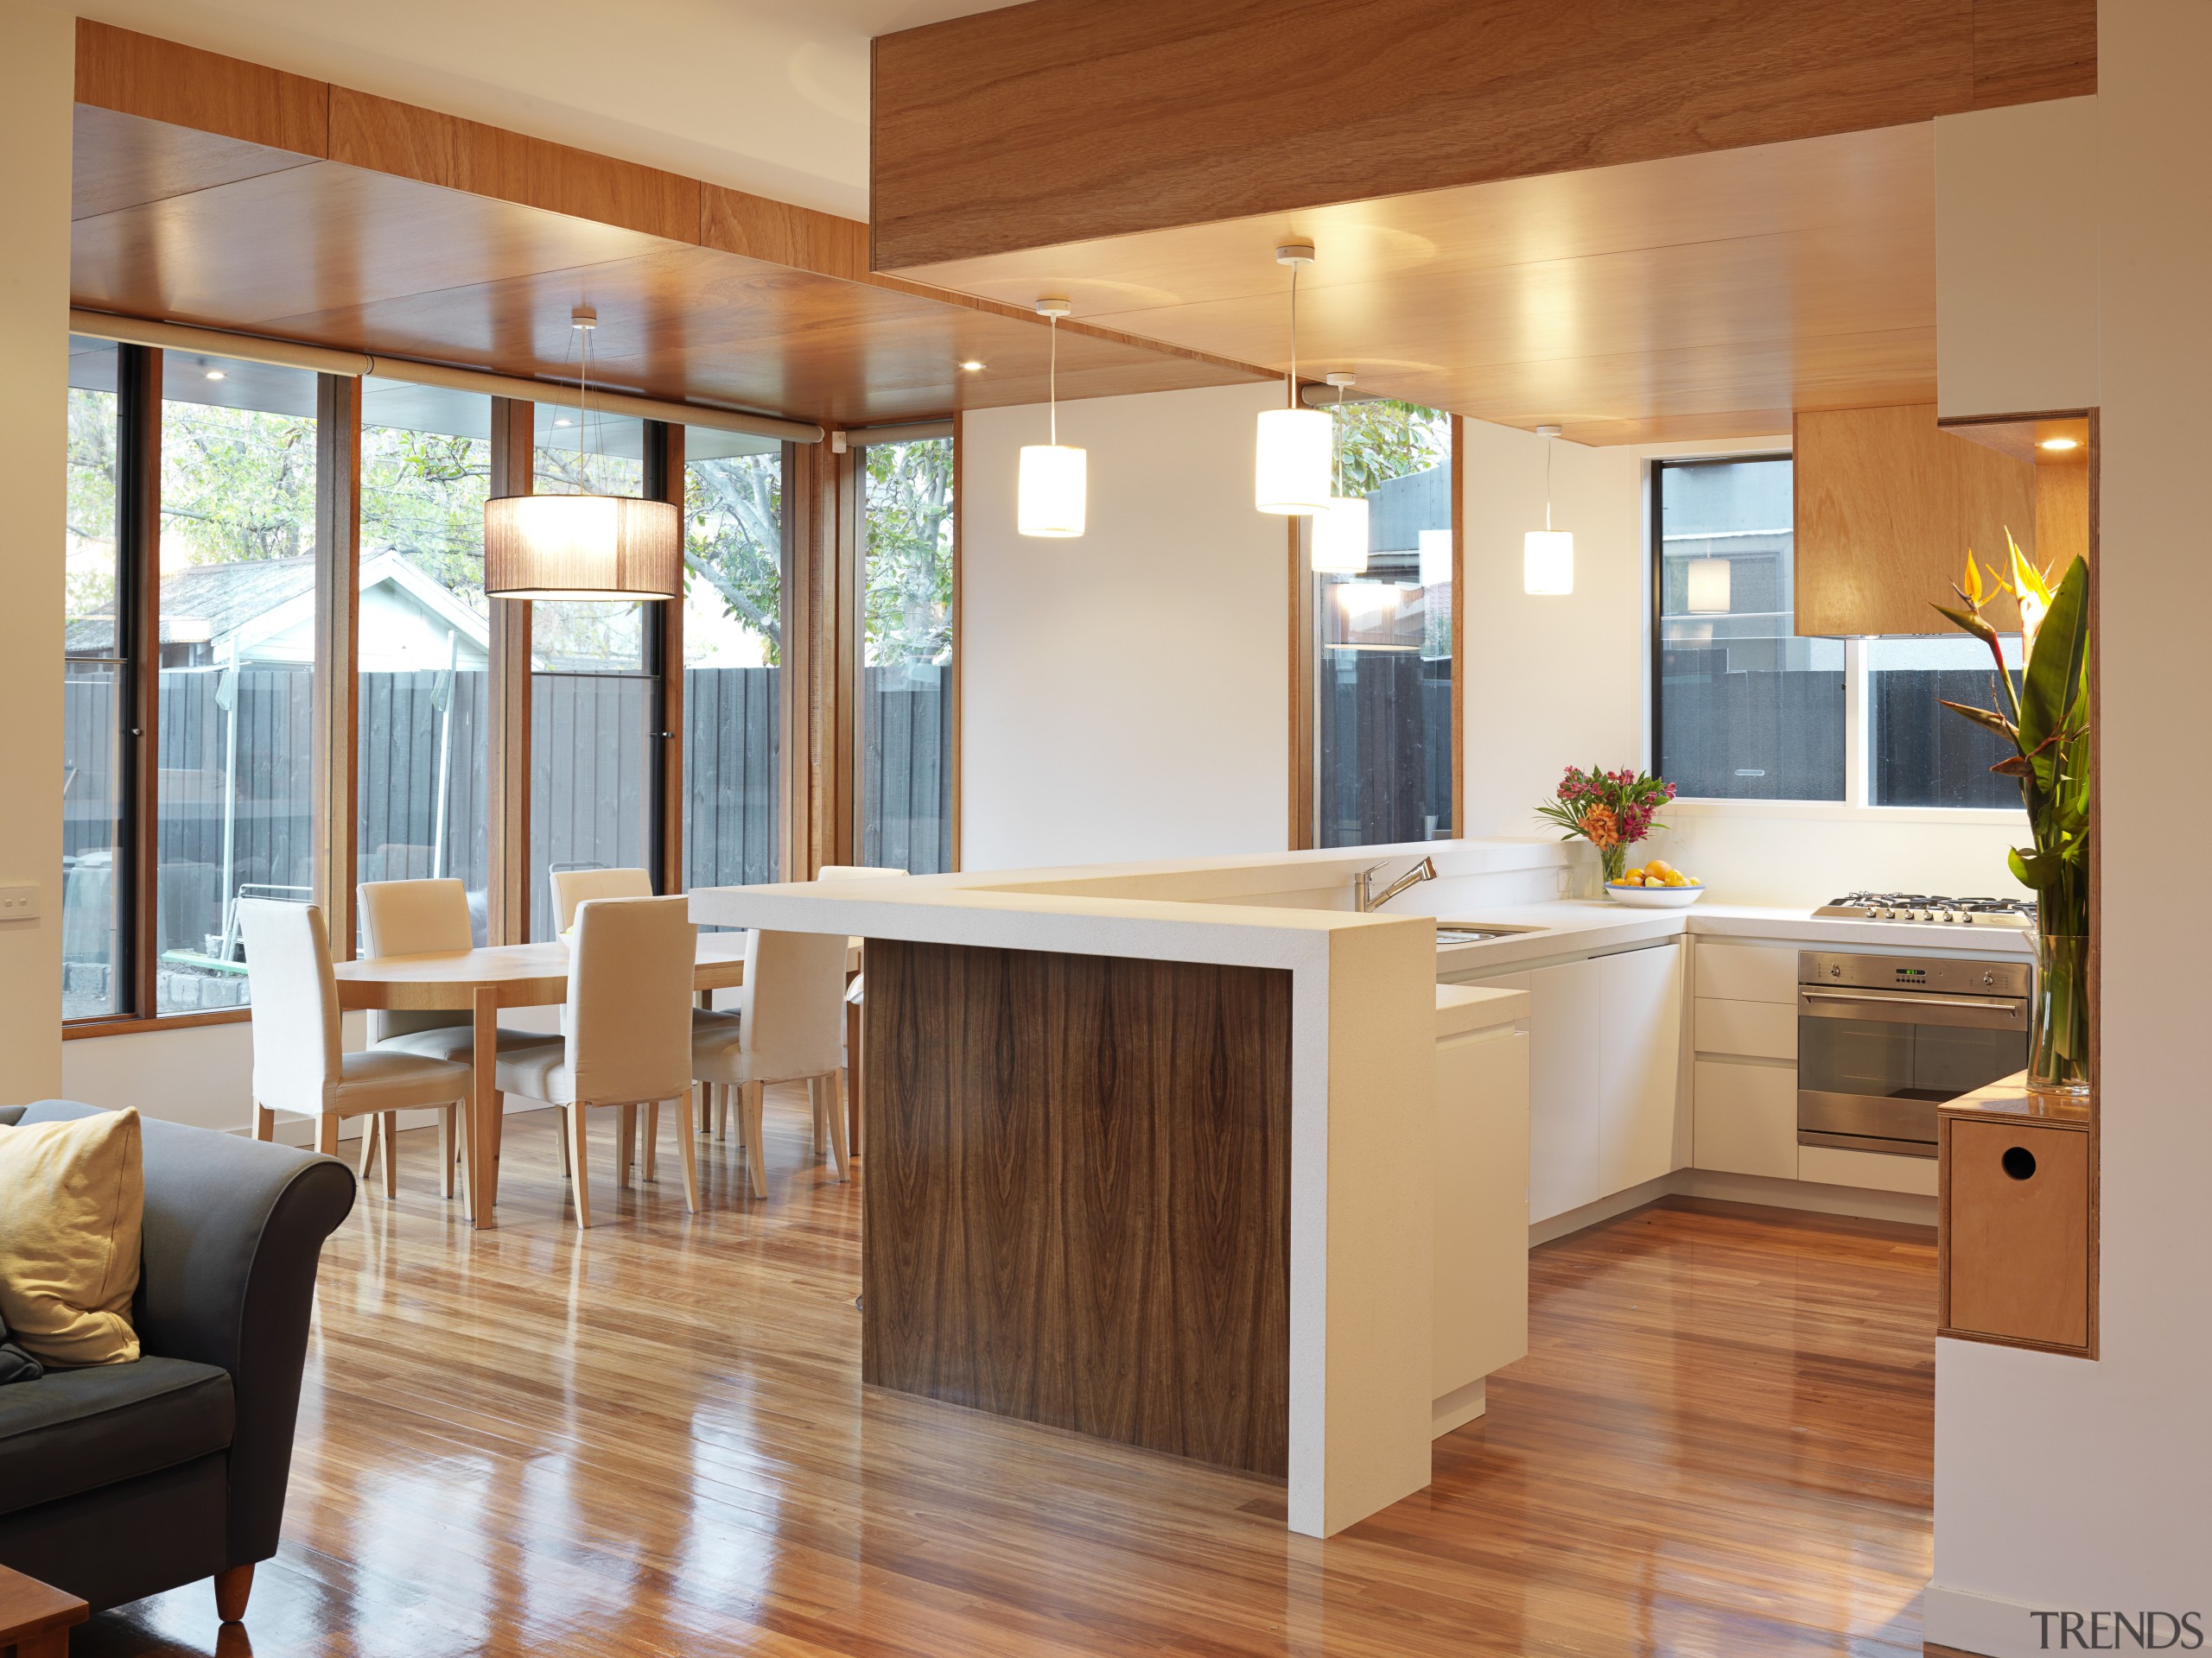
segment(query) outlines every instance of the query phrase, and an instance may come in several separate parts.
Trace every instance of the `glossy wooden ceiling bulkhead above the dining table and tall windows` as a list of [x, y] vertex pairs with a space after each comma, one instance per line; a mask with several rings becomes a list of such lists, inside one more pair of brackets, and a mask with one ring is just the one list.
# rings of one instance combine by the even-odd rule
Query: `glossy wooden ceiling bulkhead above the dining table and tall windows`
[[[77, 22], [73, 303], [827, 427], [1044, 402], [1029, 305], [867, 267], [867, 225]], [[960, 369], [982, 363], [980, 371]], [[1060, 396], [1259, 371], [1062, 327]]]

